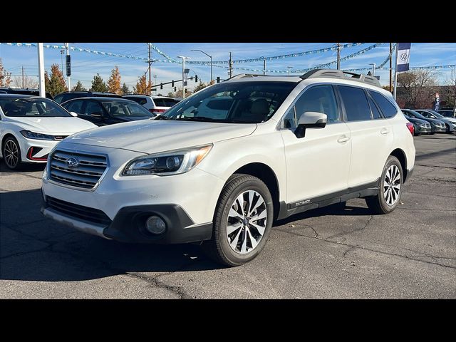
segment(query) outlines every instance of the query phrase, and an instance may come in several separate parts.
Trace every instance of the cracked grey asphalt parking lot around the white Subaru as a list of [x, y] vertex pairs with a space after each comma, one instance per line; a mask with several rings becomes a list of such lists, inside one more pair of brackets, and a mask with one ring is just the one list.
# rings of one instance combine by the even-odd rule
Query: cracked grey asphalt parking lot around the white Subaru
[[456, 136], [415, 137], [412, 180], [392, 214], [363, 199], [276, 224], [237, 268], [195, 245], [121, 244], [40, 214], [43, 166], [0, 169], [1, 299], [455, 299]]

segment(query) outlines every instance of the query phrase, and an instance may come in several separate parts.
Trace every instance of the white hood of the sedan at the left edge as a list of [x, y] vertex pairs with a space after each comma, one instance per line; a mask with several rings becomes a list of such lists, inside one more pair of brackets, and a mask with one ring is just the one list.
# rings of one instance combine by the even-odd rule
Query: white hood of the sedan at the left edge
[[9, 123], [19, 125], [24, 130], [31, 130], [43, 134], [61, 134], [71, 135], [97, 127], [93, 123], [73, 116], [68, 118], [11, 118], [8, 117]]

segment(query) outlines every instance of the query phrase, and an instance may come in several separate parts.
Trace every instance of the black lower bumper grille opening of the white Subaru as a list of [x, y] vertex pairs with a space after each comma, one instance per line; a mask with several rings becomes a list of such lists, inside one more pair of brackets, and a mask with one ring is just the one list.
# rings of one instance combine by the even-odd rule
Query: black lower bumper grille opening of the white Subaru
[[46, 203], [49, 207], [75, 219], [83, 219], [84, 221], [102, 224], [108, 226], [111, 224], [111, 219], [104, 212], [98, 209], [84, 207], [83, 205], [74, 204], [54, 197], [46, 196]]

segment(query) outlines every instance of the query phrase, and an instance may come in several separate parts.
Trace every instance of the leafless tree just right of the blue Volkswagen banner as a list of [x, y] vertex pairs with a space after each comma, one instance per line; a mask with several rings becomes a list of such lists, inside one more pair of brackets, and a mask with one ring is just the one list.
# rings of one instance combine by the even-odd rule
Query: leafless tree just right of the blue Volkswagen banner
[[[398, 98], [406, 107], [426, 108], [436, 91], [436, 73], [432, 69], [417, 69], [398, 75]], [[401, 91], [400, 91], [401, 90]], [[400, 95], [399, 95], [400, 94]]]

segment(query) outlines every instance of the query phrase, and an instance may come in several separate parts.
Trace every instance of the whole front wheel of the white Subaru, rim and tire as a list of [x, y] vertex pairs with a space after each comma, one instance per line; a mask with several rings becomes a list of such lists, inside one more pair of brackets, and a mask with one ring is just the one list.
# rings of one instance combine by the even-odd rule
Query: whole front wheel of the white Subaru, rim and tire
[[251, 175], [233, 175], [215, 209], [212, 239], [202, 247], [220, 264], [245, 264], [264, 248], [273, 214], [271, 193], [264, 182]]

